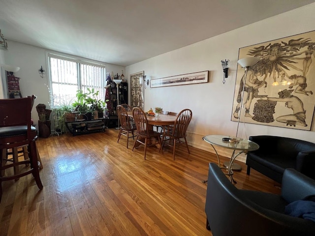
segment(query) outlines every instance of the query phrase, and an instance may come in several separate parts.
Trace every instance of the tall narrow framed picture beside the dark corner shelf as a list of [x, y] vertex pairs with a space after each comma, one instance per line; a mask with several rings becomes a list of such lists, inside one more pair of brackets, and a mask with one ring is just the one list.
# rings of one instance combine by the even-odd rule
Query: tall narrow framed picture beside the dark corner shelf
[[141, 107], [144, 109], [144, 71], [140, 71], [130, 75], [130, 89], [131, 89], [131, 107]]

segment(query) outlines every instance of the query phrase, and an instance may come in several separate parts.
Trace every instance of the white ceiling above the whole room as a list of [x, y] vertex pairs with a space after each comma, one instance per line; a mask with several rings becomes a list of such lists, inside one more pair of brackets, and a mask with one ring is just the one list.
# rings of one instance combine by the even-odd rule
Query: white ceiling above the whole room
[[0, 29], [8, 40], [126, 66], [312, 2], [0, 0]]

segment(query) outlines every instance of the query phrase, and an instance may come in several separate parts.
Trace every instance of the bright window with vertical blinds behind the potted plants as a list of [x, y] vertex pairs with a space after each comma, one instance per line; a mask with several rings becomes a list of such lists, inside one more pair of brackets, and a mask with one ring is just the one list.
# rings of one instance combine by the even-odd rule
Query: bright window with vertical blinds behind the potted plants
[[59, 106], [75, 101], [77, 90], [99, 91], [99, 98], [105, 100], [105, 66], [87, 61], [63, 58], [48, 54], [50, 66], [51, 104]]

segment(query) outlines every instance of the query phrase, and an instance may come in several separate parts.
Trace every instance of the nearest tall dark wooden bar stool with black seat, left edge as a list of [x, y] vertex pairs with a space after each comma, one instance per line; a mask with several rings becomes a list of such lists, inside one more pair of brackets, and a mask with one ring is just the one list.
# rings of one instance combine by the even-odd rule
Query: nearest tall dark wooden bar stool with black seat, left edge
[[[40, 180], [36, 153], [37, 131], [31, 125], [32, 97], [0, 99], [0, 202], [2, 181], [16, 179], [32, 174], [39, 189], [43, 188]], [[7, 149], [27, 145], [29, 159], [3, 165]], [[4, 152], [5, 150], [5, 152]], [[30, 164], [30, 170], [11, 176], [4, 176], [4, 170], [18, 165]]]

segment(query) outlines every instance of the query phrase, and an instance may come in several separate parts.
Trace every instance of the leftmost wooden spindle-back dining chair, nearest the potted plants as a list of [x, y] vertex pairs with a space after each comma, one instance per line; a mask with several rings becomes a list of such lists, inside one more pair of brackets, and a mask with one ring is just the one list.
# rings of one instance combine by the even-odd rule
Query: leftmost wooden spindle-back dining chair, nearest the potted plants
[[[123, 107], [123, 105], [117, 106], [117, 114], [120, 121], [120, 129], [118, 134], [118, 140], [117, 143], [120, 140], [120, 137], [122, 135], [127, 137], [127, 148], [128, 148], [128, 141], [129, 138], [134, 139], [134, 131], [137, 129], [135, 124], [130, 121], [130, 118], [128, 117], [126, 109]], [[129, 137], [129, 134], [131, 133], [132, 136]]]

